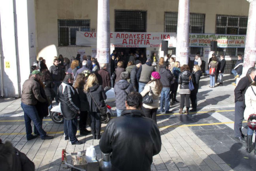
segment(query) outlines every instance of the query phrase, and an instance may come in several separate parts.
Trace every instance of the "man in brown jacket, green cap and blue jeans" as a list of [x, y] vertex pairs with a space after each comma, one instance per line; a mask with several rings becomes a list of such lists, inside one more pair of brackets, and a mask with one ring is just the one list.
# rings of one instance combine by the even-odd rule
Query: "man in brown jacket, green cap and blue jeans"
[[40, 84], [38, 82], [39, 75], [41, 75], [41, 72], [34, 70], [31, 73], [30, 78], [24, 82], [22, 87], [21, 108], [24, 111], [27, 140], [37, 138], [36, 135], [32, 135], [31, 120], [34, 122], [41, 139], [53, 139], [53, 136], [47, 136], [46, 132], [43, 130], [35, 106], [38, 101], [45, 102], [46, 100], [43, 99], [40, 94]]

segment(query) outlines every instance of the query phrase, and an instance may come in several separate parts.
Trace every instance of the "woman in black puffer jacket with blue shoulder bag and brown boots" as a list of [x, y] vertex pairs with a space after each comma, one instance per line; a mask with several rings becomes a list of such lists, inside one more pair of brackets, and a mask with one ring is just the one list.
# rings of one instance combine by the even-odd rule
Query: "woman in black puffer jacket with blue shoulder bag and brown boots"
[[181, 67], [181, 73], [179, 74], [179, 80], [178, 80], [178, 83], [180, 84], [180, 95], [181, 95], [181, 105], [180, 105], [180, 111], [179, 111], [180, 114], [182, 114], [183, 112], [184, 103], [186, 99], [186, 113], [188, 115], [189, 106], [190, 106], [189, 97], [191, 92], [188, 87], [188, 84], [190, 80], [194, 82], [189, 66], [184, 64]]

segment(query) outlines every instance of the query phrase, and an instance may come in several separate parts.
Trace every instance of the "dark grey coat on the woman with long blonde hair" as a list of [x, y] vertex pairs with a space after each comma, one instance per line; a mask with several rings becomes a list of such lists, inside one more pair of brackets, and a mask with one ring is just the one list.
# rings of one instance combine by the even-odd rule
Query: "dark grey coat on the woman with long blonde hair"
[[[96, 84], [96, 85], [90, 87], [89, 91], [86, 92], [86, 96], [87, 96], [87, 100], [90, 105], [89, 112], [99, 113], [98, 106], [100, 106], [100, 108], [105, 106], [104, 100], [107, 99], [107, 95], [106, 95], [104, 89], [102, 88], [102, 86], [100, 86], [99, 84]], [[94, 100], [96, 101], [98, 106], [94, 102], [92, 97], [94, 98]]]

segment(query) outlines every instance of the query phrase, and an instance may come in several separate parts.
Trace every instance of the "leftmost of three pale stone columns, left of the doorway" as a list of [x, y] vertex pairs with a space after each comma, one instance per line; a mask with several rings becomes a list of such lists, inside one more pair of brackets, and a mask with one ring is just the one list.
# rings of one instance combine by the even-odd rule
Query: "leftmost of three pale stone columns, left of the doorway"
[[109, 27], [109, 0], [98, 0], [97, 25], [97, 59], [98, 62], [107, 63], [110, 72], [110, 27]]

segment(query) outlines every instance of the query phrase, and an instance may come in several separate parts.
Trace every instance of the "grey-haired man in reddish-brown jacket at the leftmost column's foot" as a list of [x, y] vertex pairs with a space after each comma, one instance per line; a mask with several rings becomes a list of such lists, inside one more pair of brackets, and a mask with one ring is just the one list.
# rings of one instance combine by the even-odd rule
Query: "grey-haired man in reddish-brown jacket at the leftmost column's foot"
[[100, 71], [98, 71], [98, 74], [101, 77], [98, 80], [99, 84], [102, 85], [103, 89], [105, 87], [111, 87], [110, 74], [109, 72], [107, 72], [107, 65], [103, 63], [100, 65], [100, 68], [101, 68]]

